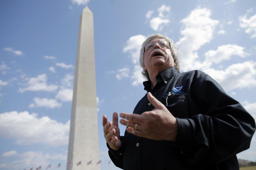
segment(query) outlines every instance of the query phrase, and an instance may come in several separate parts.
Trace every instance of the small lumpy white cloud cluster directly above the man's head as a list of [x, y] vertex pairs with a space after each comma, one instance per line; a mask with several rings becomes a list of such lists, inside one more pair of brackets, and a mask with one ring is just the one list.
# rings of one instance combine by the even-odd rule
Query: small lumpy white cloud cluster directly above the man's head
[[[153, 17], [150, 20], [150, 27], [154, 29], [155, 31], [161, 31], [165, 25], [170, 23], [170, 20], [168, 19], [168, 15], [170, 12], [170, 6], [162, 5], [157, 9], [158, 16]], [[166, 12], [166, 15], [164, 13]], [[153, 14], [153, 11], [149, 10], [146, 14], [146, 18], [151, 18]]]

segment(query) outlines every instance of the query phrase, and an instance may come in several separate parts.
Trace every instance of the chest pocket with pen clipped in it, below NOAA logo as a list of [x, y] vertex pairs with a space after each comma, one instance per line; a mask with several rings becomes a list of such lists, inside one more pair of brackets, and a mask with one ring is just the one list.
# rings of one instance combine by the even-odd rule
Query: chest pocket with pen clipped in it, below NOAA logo
[[171, 112], [174, 117], [187, 118], [188, 117], [188, 95], [170, 95], [167, 100], [166, 97], [161, 97], [161, 102]]

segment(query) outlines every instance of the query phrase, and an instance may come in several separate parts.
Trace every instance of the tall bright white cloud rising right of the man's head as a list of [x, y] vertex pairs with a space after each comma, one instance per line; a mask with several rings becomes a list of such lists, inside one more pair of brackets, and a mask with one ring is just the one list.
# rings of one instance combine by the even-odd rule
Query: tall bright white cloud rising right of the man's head
[[210, 18], [211, 11], [207, 8], [196, 8], [190, 15], [181, 20], [183, 24], [181, 35], [177, 42], [180, 51], [183, 53], [181, 59], [181, 70], [194, 70], [202, 67], [198, 61], [198, 50], [202, 45], [213, 39], [213, 31], [219, 24], [218, 20]]

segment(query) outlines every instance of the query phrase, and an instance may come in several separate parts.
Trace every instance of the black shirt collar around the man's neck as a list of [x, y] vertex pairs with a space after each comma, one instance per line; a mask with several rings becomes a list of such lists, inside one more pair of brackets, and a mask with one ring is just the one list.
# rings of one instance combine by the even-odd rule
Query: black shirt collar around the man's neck
[[[176, 73], [178, 73], [178, 71], [174, 67], [171, 67], [169, 69], [161, 71], [155, 77], [157, 79], [157, 84], [155, 85], [154, 88], [162, 86], [163, 83], [168, 82], [171, 79], [171, 77], [173, 77], [173, 75]], [[144, 90], [146, 90], [147, 92], [151, 91], [151, 81], [150, 80], [143, 82], [143, 85], [144, 85]]]

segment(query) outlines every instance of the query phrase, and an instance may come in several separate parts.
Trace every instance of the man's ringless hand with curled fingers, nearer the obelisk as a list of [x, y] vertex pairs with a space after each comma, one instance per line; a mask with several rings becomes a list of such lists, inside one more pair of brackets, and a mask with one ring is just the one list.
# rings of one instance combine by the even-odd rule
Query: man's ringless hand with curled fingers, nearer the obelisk
[[102, 119], [104, 137], [113, 150], [118, 150], [121, 147], [120, 130], [118, 128], [118, 114], [113, 113], [113, 123], [107, 121], [107, 116], [103, 115]]

